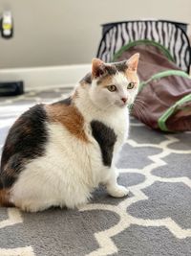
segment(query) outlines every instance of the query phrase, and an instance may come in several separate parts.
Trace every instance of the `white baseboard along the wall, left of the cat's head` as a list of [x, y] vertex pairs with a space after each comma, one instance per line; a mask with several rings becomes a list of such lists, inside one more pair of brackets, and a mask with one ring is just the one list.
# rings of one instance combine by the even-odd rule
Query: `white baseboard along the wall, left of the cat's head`
[[0, 81], [24, 81], [26, 90], [72, 87], [91, 70], [90, 64], [0, 70]]

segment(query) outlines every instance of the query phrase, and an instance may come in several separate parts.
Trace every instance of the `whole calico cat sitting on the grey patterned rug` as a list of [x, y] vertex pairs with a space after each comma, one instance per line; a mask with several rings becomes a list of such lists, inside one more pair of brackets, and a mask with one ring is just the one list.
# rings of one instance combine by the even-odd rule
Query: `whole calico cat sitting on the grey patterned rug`
[[115, 162], [129, 128], [128, 105], [138, 93], [138, 57], [92, 62], [71, 97], [34, 105], [10, 129], [0, 170], [0, 203], [36, 212], [77, 207], [104, 184], [121, 198]]

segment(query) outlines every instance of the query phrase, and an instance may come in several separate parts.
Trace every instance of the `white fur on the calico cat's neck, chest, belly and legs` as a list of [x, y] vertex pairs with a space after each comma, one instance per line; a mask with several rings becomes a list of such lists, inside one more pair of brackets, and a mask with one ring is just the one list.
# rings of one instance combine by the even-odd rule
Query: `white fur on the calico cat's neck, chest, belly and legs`
[[[116, 79], [119, 83], [123, 82], [119, 76]], [[128, 134], [128, 109], [115, 104], [104, 108], [104, 105], [109, 104], [107, 97], [100, 107], [95, 105], [97, 99], [93, 98], [97, 97], [94, 92], [96, 89], [94, 84], [91, 88], [79, 86], [79, 97], [75, 100], [75, 105], [85, 120], [84, 130], [89, 143], [76, 139], [59, 123], [47, 124], [50, 138], [46, 153], [28, 163], [13, 185], [11, 201], [15, 205], [34, 212], [52, 205], [74, 208], [86, 203], [99, 183], [106, 184], [108, 193], [113, 197], [127, 195], [126, 188], [117, 185], [115, 161]], [[117, 134], [111, 168], [102, 164], [99, 145], [91, 134], [92, 120], [113, 128]]]

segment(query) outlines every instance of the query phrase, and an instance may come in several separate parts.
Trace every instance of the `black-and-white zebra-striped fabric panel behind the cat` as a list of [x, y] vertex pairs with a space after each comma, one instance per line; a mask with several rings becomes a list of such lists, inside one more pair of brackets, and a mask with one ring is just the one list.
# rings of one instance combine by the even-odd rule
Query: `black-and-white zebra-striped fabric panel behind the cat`
[[127, 21], [114, 23], [103, 35], [97, 58], [111, 62], [117, 51], [129, 42], [149, 39], [167, 48], [177, 65], [189, 72], [190, 44], [179, 26], [167, 21]]

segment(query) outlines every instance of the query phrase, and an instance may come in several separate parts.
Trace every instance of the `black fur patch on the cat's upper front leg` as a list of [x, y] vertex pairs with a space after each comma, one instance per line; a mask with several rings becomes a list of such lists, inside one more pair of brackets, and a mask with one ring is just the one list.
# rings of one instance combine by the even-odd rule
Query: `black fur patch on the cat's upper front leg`
[[99, 121], [92, 121], [91, 127], [101, 150], [103, 164], [110, 167], [117, 135], [112, 128], [108, 128]]

